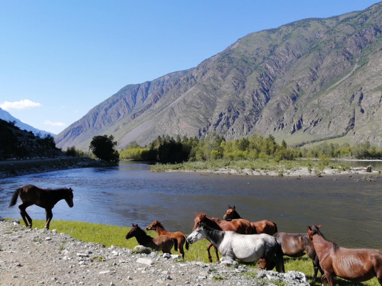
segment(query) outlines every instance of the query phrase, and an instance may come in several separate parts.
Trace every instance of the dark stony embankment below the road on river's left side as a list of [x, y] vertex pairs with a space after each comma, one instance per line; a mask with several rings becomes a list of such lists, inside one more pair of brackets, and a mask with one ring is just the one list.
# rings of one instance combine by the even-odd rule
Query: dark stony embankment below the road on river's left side
[[115, 164], [97, 161], [87, 157], [58, 157], [47, 159], [0, 161], [0, 179], [56, 170], [112, 166], [115, 166]]

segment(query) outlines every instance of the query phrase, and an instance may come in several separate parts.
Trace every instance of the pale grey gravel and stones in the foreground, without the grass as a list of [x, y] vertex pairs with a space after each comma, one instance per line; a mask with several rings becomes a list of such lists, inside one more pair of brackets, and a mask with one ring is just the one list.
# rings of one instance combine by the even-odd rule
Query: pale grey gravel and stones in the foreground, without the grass
[[301, 272], [256, 270], [224, 257], [220, 264], [189, 262], [142, 248], [105, 248], [0, 222], [0, 285], [309, 285]]

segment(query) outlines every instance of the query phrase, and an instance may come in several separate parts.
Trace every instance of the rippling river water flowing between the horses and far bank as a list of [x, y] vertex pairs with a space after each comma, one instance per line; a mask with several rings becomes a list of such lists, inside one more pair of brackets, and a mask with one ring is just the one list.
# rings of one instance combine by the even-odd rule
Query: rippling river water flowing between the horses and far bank
[[[359, 164], [361, 165], [361, 164]], [[381, 168], [382, 169], [382, 168]], [[222, 219], [228, 204], [252, 221], [269, 219], [279, 231], [300, 233], [322, 225], [325, 236], [345, 247], [382, 249], [382, 177], [355, 181], [361, 175], [324, 178], [151, 172], [149, 164], [120, 162], [111, 168], [83, 168], [23, 175], [0, 180], [0, 215], [20, 217], [18, 203], [9, 208], [13, 191], [23, 185], [71, 186], [74, 207], [60, 201], [53, 220], [82, 220], [146, 227], [158, 219], [168, 230], [188, 234], [194, 212]], [[44, 209], [27, 209], [45, 219]], [[51, 223], [54, 228], [54, 221]], [[121, 235], [125, 235], [121, 233]]]

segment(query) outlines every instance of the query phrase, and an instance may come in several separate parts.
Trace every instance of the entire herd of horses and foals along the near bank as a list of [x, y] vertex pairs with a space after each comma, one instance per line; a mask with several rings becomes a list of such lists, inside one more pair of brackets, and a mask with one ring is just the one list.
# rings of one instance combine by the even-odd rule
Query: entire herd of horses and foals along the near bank
[[[52, 209], [64, 199], [69, 207], [73, 207], [73, 190], [71, 188], [42, 189], [34, 185], [26, 185], [14, 191], [10, 207], [16, 204], [17, 198], [23, 202], [19, 205], [21, 217], [26, 227], [32, 227], [32, 219], [26, 208], [33, 204], [45, 209], [46, 224], [49, 229], [52, 220]], [[232, 259], [244, 262], [257, 261], [257, 267], [278, 272], [285, 272], [283, 255], [301, 257], [305, 254], [312, 260], [314, 268], [313, 280], [321, 273], [321, 281], [326, 286], [333, 286], [333, 278], [341, 277], [353, 282], [363, 282], [377, 277], [382, 286], [382, 251], [378, 249], [348, 249], [325, 239], [320, 232], [320, 225], [308, 226], [306, 233], [279, 232], [274, 222], [261, 220], [250, 222], [240, 217], [235, 206], [228, 205], [223, 220], [207, 217], [206, 214], [195, 213], [193, 232], [186, 236], [180, 231], [166, 231], [163, 225], [155, 220], [146, 227], [154, 230], [157, 237], [147, 233], [133, 224], [125, 238], [135, 237], [138, 244], [156, 251], [171, 254], [171, 249], [179, 249], [181, 257], [185, 255], [183, 246], [188, 250], [189, 244], [206, 238], [208, 260], [212, 262], [210, 247], [214, 247], [216, 260], [220, 253]]]

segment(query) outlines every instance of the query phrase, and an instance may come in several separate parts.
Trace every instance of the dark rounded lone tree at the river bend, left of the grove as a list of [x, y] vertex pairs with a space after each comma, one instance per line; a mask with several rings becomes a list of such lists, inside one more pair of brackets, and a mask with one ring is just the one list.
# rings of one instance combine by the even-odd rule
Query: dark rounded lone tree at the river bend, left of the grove
[[119, 153], [114, 149], [117, 146], [117, 141], [113, 141], [114, 136], [98, 135], [92, 138], [89, 145], [89, 150], [102, 161], [115, 162], [119, 161]]

